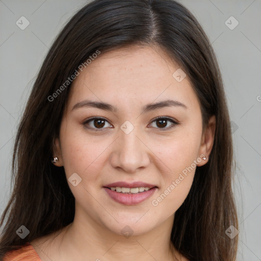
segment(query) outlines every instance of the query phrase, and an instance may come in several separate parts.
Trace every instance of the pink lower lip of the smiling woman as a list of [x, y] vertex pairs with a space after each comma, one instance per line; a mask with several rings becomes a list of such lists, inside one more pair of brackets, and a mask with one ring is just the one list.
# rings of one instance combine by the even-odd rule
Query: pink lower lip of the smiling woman
[[113, 191], [111, 189], [103, 187], [108, 195], [115, 200], [118, 203], [124, 204], [124, 205], [135, 205], [139, 204], [142, 201], [148, 199], [152, 194], [155, 192], [157, 188], [152, 188], [148, 191], [136, 193], [136, 194], [125, 194]]

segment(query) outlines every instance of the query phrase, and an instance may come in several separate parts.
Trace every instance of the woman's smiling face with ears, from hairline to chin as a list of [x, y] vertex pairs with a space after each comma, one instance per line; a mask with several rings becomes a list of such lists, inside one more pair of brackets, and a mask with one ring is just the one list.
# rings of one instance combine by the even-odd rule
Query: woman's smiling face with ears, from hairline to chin
[[202, 133], [188, 77], [159, 48], [101, 53], [79, 72], [55, 148], [75, 217], [116, 234], [172, 222], [207, 162], [200, 155], [210, 154], [215, 117]]

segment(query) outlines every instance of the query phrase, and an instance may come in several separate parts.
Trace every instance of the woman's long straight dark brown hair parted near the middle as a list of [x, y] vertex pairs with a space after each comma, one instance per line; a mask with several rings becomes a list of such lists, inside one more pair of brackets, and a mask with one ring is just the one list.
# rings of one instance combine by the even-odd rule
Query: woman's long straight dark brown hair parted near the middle
[[[171, 241], [190, 260], [236, 259], [238, 237], [230, 239], [225, 233], [230, 225], [238, 227], [238, 218], [231, 189], [231, 128], [220, 70], [196, 18], [172, 0], [95, 0], [60, 32], [19, 124], [12, 162], [14, 188], [0, 224], [4, 225], [0, 258], [74, 218], [75, 202], [64, 168], [50, 162], [71, 84], [55, 100], [48, 97], [97, 50], [105, 53], [134, 44], [160, 46], [186, 72], [200, 101], [203, 126], [216, 116], [210, 159], [196, 168], [189, 195], [175, 213]], [[21, 225], [30, 230], [25, 239], [16, 234]]]

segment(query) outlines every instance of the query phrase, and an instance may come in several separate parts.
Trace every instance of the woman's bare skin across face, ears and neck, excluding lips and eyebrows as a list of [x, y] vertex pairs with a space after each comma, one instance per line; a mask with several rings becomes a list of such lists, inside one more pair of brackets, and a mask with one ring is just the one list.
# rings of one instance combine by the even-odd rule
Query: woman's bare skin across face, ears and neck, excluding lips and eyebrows
[[[212, 116], [202, 129], [200, 104], [188, 77], [177, 82], [172, 76], [178, 68], [159, 47], [133, 46], [99, 55], [76, 77], [54, 156], [59, 159], [55, 165], [64, 167], [67, 179], [77, 173], [82, 181], [76, 187], [68, 182], [75, 197], [74, 221], [31, 242], [43, 261], [174, 260], [170, 246], [174, 214], [190, 191], [196, 168], [183, 175], [158, 205], [151, 202], [182, 170], [193, 166], [193, 161], [197, 166], [207, 163], [216, 126]], [[72, 110], [87, 98], [108, 102], [118, 112], [87, 107]], [[164, 107], [141, 114], [148, 103], [170, 98], [187, 109]], [[97, 121], [82, 124], [93, 116], [107, 120], [102, 131], [95, 131]], [[172, 123], [157, 125], [153, 120], [159, 116], [180, 124], [164, 131]], [[120, 128], [126, 120], [134, 126], [129, 134]], [[198, 162], [201, 154], [207, 159]], [[137, 205], [124, 205], [103, 189], [116, 181], [143, 181], [158, 189]], [[133, 230], [129, 238], [121, 234], [126, 225]], [[175, 253], [175, 260], [187, 260]]]

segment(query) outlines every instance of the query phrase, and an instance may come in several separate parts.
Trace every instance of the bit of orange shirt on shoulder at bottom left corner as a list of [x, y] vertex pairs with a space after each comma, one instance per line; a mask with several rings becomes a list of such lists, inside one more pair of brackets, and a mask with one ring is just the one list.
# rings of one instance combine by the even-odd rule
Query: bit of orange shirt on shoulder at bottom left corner
[[41, 258], [30, 242], [27, 242], [19, 249], [7, 252], [3, 261], [41, 261]]

